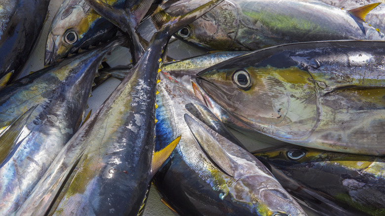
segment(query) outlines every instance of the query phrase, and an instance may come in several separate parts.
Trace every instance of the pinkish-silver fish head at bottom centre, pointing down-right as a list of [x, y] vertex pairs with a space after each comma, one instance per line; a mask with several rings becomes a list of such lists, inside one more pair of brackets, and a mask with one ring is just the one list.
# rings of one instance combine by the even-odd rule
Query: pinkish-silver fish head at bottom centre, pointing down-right
[[269, 176], [251, 175], [238, 179], [232, 184], [230, 193], [232, 200], [247, 205], [256, 215], [306, 216], [299, 204]]

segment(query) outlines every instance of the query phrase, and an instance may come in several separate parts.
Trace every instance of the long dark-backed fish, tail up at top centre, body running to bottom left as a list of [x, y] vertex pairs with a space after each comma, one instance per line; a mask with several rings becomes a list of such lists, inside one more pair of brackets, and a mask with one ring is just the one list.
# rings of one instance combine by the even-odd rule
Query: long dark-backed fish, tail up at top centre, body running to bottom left
[[[162, 53], [172, 34], [219, 2], [169, 20], [153, 36], [130, 74], [66, 144], [63, 151], [70, 154], [57, 157], [43, 176], [43, 188], [34, 191], [39, 214], [141, 213], [153, 177], [155, 93]], [[45, 182], [54, 185], [47, 187]]]

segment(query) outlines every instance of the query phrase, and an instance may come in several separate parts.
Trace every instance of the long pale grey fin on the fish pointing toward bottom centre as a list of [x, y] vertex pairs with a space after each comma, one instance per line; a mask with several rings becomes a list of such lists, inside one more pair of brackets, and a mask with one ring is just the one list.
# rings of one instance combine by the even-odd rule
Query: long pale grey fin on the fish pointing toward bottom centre
[[234, 177], [233, 162], [229, 155], [222, 149], [209, 132], [190, 115], [185, 114], [185, 121], [192, 132], [192, 135], [201, 146], [206, 155], [227, 175]]

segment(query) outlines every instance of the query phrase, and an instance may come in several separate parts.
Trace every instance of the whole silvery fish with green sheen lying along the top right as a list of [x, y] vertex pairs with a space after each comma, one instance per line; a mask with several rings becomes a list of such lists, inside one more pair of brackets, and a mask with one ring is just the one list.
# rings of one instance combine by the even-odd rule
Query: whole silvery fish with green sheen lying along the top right
[[[199, 1], [181, 0], [166, 11], [183, 13]], [[226, 0], [176, 35], [216, 50], [256, 50], [318, 40], [385, 39], [383, 33], [348, 11], [318, 0]]]

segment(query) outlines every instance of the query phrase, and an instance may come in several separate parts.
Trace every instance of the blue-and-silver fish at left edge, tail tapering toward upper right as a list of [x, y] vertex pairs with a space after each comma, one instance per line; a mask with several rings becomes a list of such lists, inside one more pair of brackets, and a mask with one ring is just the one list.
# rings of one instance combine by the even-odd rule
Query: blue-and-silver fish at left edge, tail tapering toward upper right
[[17, 149], [0, 167], [0, 215], [10, 215], [21, 206], [77, 131], [92, 80], [108, 48], [34, 72], [0, 91], [2, 130], [38, 105], [17, 141]]

